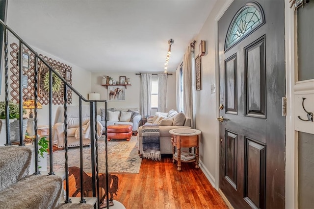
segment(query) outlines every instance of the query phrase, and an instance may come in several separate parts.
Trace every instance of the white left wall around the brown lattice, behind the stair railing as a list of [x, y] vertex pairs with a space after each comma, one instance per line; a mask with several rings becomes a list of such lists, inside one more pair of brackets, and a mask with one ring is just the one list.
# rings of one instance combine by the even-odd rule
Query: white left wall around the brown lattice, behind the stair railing
[[[10, 46], [11, 43], [15, 42], [18, 43], [18, 41], [12, 37], [9, 36], [9, 44]], [[31, 46], [32, 47], [32, 46]], [[83, 97], [88, 99], [88, 93], [91, 92], [91, 72], [84, 70], [82, 68], [79, 68], [78, 66], [75, 66], [69, 62], [66, 62], [65, 60], [62, 60], [61, 58], [55, 57], [52, 54], [49, 54], [46, 51], [43, 51], [41, 49], [38, 49], [36, 47], [32, 47], [38, 54], [43, 54], [44, 56], [47, 56], [49, 58], [52, 58], [56, 61], [59, 61], [61, 63], [64, 63], [70, 67], [72, 67], [72, 86], [80, 93]], [[9, 52], [11, 49], [9, 48]], [[9, 61], [12, 59], [12, 57], [9, 55]], [[4, 66], [4, 63], [3, 63]], [[9, 75], [10, 73], [10, 68], [12, 67], [11, 63], [9, 62]], [[1, 81], [1, 95], [0, 95], [0, 101], [3, 101], [5, 99], [5, 87], [4, 87], [4, 67], [2, 68], [2, 81]], [[11, 84], [11, 79], [9, 76], [9, 94], [11, 92], [10, 88]], [[9, 99], [11, 97], [9, 96]], [[75, 96], [75, 93], [72, 93], [72, 104], [76, 105], [78, 104], [78, 96]], [[52, 109], [52, 123], [54, 122], [54, 117], [55, 117], [55, 112], [57, 109], [58, 105], [53, 105]], [[30, 110], [27, 110], [27, 114], [24, 115], [24, 117], [28, 117]], [[34, 111], [34, 110], [33, 110]], [[49, 124], [49, 105], [43, 105], [42, 109], [38, 109], [38, 125], [48, 125]]]

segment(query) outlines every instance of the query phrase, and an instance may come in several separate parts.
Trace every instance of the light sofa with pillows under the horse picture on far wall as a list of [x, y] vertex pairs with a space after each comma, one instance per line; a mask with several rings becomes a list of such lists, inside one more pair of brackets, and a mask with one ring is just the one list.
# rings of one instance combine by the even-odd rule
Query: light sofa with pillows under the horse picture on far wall
[[134, 135], [138, 133], [138, 127], [141, 123], [142, 116], [139, 114], [138, 108], [110, 108], [105, 114], [105, 109], [100, 109], [101, 114], [97, 116], [97, 120], [105, 127], [105, 116], [107, 116], [108, 125], [132, 125]]

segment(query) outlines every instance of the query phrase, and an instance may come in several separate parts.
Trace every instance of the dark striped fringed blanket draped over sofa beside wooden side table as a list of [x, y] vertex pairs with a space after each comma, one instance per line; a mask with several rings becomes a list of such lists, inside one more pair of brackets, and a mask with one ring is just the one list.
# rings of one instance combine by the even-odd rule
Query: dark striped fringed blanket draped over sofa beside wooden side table
[[142, 136], [143, 158], [160, 161], [159, 126], [143, 126]]

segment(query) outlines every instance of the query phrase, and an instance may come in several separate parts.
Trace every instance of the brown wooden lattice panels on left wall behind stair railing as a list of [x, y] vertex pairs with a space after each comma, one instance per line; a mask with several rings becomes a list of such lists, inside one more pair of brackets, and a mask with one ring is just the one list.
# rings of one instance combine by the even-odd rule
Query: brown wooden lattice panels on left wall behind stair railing
[[[10, 60], [10, 63], [12, 64], [12, 67], [10, 68], [12, 74], [10, 76], [12, 83], [11, 83], [11, 96], [12, 100], [14, 102], [19, 101], [19, 63], [18, 63], [18, 56], [19, 56], [19, 46], [16, 43], [12, 43], [11, 45], [12, 51], [10, 52], [10, 55], [12, 59]], [[23, 88], [23, 100], [34, 98], [34, 80], [35, 80], [35, 66], [34, 66], [34, 60], [35, 55], [30, 52], [30, 50], [23, 46], [23, 53], [27, 54], [29, 56], [29, 68], [23, 68], [23, 74], [27, 76], [27, 87]], [[60, 75], [69, 83], [72, 85], [72, 68], [68, 65], [65, 65], [63, 63], [60, 63], [56, 60], [52, 60], [51, 58], [48, 58], [47, 56], [43, 56], [42, 54], [39, 55], [42, 57], [51, 67], [53, 70], [57, 70]], [[43, 88], [43, 78], [46, 73], [49, 72], [48, 67], [41, 61], [37, 62], [38, 64], [38, 101], [43, 105], [49, 104], [49, 92], [45, 91]], [[60, 91], [57, 93], [52, 94], [52, 104], [63, 104], [63, 82], [61, 84]], [[68, 96], [68, 104], [72, 103], [72, 91], [67, 91]]]

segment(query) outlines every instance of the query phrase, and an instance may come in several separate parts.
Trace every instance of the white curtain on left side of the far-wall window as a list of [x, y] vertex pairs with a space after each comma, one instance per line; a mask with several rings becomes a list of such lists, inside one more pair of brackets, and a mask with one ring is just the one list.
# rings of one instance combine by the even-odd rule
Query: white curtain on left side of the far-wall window
[[151, 115], [151, 93], [152, 93], [152, 74], [141, 73], [141, 90], [142, 90], [142, 117]]

